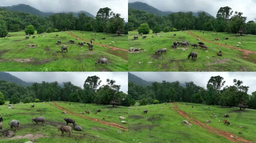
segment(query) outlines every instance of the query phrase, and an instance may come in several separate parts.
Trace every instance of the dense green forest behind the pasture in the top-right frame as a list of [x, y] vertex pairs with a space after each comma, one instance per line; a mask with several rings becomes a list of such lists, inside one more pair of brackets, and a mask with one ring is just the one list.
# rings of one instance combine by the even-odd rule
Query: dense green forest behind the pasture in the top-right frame
[[154, 33], [177, 30], [203, 30], [230, 33], [246, 33], [256, 35], [255, 21], [246, 23], [246, 17], [242, 12], [234, 12], [231, 7], [220, 7], [216, 18], [205, 12], [198, 12], [194, 16], [192, 12], [171, 13], [159, 16], [142, 10], [128, 10], [128, 30], [138, 29], [146, 23]]

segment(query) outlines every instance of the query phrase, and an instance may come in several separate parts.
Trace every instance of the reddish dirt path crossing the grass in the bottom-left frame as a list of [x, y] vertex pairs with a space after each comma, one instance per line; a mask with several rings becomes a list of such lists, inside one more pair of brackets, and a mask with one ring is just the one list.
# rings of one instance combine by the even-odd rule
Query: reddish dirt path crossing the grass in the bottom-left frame
[[126, 130], [126, 131], [128, 131], [127, 127], [124, 127], [124, 126], [119, 125], [119, 124], [116, 124], [116, 123], [101, 121], [101, 120], [98, 120], [98, 119], [96, 119], [96, 118], [85, 117], [85, 116], [83, 116], [83, 115], [76, 114], [76, 113], [74, 113], [74, 112], [72, 112], [72, 111], [70, 111], [70, 110], [65, 109], [64, 107], [61, 107], [61, 106], [57, 105], [56, 102], [54, 102], [53, 105], [54, 105], [55, 107], [61, 109], [62, 111], [65, 111], [65, 112], [67, 112], [67, 113], [73, 114], [73, 115], [75, 115], [75, 116], [77, 116], [77, 117], [89, 119], [89, 120], [92, 120], [92, 121], [94, 121], [94, 122], [98, 122], [98, 123], [101, 123], [101, 124], [104, 124], [104, 125], [109, 125], [109, 126], [111, 126], [111, 127], [115, 127], [115, 128], [119, 128], [119, 129], [121, 129], [121, 130]]

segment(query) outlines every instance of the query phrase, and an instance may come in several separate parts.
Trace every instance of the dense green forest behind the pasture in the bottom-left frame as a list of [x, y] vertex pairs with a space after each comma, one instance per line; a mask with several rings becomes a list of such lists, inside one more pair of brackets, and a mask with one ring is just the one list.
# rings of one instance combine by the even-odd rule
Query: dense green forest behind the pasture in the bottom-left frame
[[107, 79], [107, 85], [101, 85], [100, 77], [89, 76], [83, 88], [64, 82], [63, 87], [58, 82], [33, 83], [31, 86], [19, 86], [16, 83], [0, 80], [0, 105], [5, 101], [10, 104], [19, 102], [67, 101], [80, 103], [95, 103], [104, 105], [130, 106], [135, 104], [131, 95], [120, 91], [120, 85], [115, 80]]

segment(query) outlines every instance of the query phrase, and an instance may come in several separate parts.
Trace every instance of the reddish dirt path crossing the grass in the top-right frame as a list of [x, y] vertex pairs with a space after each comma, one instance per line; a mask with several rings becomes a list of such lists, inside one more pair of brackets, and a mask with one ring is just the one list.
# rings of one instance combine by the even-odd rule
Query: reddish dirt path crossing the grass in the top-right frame
[[233, 46], [229, 46], [229, 45], [223, 45], [223, 44], [220, 44], [220, 43], [216, 43], [216, 42], [213, 42], [213, 41], [210, 41], [210, 40], [207, 40], [207, 39], [204, 39], [202, 37], [199, 37], [195, 34], [192, 34], [192, 31], [188, 31], [189, 34], [191, 34], [192, 36], [194, 36], [195, 38], [199, 38], [199, 39], [202, 39], [203, 41], [205, 42], [208, 42], [208, 43], [211, 43], [211, 44], [215, 44], [215, 45], [219, 45], [219, 46], [222, 46], [222, 47], [226, 47], [226, 48], [231, 48], [231, 49], [234, 49], [234, 50], [237, 50], [237, 51], [241, 51], [244, 53], [244, 55], [248, 55], [248, 54], [256, 54], [255, 51], [250, 51], [250, 50], [244, 50], [244, 49], [240, 49], [240, 48], [236, 48], [236, 47], [233, 47]]

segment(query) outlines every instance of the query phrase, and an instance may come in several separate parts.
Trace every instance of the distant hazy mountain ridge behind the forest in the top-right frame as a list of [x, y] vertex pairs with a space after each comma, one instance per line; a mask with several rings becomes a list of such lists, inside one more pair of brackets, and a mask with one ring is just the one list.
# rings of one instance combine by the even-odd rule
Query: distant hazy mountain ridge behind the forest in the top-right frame
[[[174, 12], [162, 12], [161, 10], [156, 9], [153, 6], [148, 5], [147, 3], [142, 3], [142, 2], [133, 2], [133, 3], [128, 3], [128, 8], [129, 9], [137, 9], [137, 10], [143, 10], [145, 12], [149, 12], [155, 15], [159, 16], [164, 16], [164, 15], [169, 15]], [[198, 12], [202, 11], [197, 11], [193, 12], [194, 16], [198, 16]], [[205, 12], [207, 15], [211, 16], [209, 13]]]

